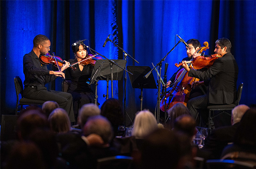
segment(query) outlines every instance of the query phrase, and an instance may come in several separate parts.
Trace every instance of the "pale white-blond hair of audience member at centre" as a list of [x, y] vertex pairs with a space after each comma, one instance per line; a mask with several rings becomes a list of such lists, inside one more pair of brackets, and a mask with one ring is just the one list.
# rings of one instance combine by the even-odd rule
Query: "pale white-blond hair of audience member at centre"
[[154, 132], [157, 128], [157, 120], [154, 115], [148, 110], [143, 110], [135, 116], [132, 135], [138, 139], [142, 139], [151, 132]]

